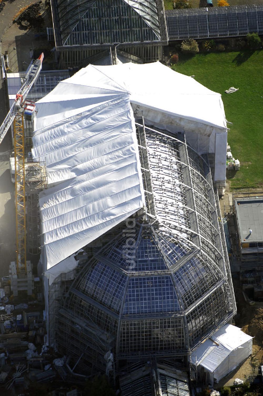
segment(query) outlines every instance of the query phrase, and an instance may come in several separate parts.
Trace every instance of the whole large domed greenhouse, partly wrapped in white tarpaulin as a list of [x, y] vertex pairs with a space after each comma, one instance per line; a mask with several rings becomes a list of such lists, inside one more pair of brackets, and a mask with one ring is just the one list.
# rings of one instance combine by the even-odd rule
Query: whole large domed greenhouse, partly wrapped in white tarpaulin
[[159, 62], [89, 65], [36, 106], [49, 344], [79, 373], [186, 367], [236, 313], [221, 95]]

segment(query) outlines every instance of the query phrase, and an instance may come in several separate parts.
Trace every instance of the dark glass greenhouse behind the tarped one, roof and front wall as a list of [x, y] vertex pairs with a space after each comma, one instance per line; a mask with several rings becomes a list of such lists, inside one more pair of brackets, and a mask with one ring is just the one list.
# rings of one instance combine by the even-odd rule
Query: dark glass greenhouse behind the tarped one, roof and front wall
[[163, 59], [163, 0], [51, 0], [51, 10], [62, 67]]

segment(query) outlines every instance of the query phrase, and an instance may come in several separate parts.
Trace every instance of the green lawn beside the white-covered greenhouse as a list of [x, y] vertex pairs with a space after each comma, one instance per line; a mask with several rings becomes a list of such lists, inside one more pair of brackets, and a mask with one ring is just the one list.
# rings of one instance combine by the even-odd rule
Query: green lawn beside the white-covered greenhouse
[[[263, 185], [263, 51], [197, 54], [179, 53], [172, 69], [195, 75], [195, 80], [222, 95], [231, 129], [228, 143], [240, 170], [231, 175], [231, 188]], [[229, 87], [239, 88], [226, 94]]]

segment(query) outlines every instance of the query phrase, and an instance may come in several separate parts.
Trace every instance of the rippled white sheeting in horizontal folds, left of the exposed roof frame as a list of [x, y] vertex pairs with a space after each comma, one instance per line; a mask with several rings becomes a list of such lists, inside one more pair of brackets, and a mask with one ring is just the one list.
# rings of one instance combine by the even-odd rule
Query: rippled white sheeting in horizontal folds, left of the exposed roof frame
[[56, 183], [39, 200], [44, 272], [144, 206], [127, 94], [36, 131], [33, 155]]

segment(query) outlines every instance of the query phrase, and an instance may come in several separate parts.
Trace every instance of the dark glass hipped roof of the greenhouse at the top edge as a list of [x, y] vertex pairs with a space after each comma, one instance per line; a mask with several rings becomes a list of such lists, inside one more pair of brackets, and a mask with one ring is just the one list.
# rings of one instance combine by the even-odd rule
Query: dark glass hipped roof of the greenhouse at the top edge
[[[53, 18], [55, 14], [53, 10]], [[155, 0], [59, 0], [57, 15], [61, 44], [56, 42], [56, 45], [96, 46], [161, 40]]]

